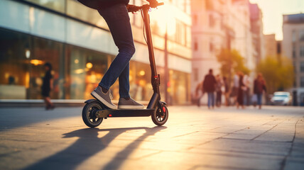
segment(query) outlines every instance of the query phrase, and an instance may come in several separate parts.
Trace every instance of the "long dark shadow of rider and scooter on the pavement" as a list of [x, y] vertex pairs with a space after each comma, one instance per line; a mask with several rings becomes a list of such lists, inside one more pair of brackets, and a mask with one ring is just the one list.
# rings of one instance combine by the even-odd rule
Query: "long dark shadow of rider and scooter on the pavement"
[[[165, 127], [154, 128], [116, 128], [116, 129], [81, 129], [63, 134], [64, 137], [79, 137], [70, 147], [61, 152], [53, 154], [50, 157], [40, 160], [36, 164], [26, 167], [25, 169], [76, 169], [77, 166], [85, 162], [85, 160], [94, 156], [103, 149], [106, 149], [112, 140], [127, 130], [146, 130], [146, 132], [131, 142], [121, 152], [104, 166], [103, 169], [119, 169], [119, 166], [129, 155], [143, 142], [146, 137], [156, 134], [156, 132], [165, 129]], [[108, 132], [103, 137], [98, 137], [98, 132]], [[100, 157], [102, 159], [102, 157]]]

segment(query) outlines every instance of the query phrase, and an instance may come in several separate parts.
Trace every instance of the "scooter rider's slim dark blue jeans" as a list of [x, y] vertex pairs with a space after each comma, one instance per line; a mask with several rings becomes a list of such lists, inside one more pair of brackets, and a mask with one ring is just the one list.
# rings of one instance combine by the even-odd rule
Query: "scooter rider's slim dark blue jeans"
[[117, 4], [98, 12], [107, 22], [114, 43], [119, 49], [119, 54], [113, 60], [106, 74], [104, 74], [99, 86], [110, 89], [118, 78], [119, 96], [128, 98], [130, 97], [129, 61], [135, 53], [128, 10], [125, 4]]

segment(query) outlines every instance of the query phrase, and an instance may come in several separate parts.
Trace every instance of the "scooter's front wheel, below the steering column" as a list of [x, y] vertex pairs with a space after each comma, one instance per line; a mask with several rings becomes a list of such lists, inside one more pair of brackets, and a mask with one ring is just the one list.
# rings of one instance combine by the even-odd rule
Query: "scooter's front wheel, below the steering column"
[[166, 106], [158, 106], [156, 111], [151, 115], [153, 123], [158, 126], [164, 125], [168, 120], [169, 112]]

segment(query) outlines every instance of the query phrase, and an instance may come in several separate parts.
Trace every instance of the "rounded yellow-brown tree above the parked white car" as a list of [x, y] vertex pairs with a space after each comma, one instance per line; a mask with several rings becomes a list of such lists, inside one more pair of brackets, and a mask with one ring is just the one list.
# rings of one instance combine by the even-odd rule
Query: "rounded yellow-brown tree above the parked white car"
[[256, 72], [263, 74], [268, 94], [283, 91], [293, 86], [293, 64], [287, 57], [268, 56], [256, 66]]

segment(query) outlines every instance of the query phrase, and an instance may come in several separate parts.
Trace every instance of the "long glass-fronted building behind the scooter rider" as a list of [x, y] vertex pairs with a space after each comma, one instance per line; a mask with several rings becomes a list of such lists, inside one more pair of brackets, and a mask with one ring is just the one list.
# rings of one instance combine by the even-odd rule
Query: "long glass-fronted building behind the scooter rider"
[[[167, 77], [161, 79], [161, 94], [172, 104], [190, 101], [191, 18], [187, 1], [165, 0], [165, 6], [151, 11], [156, 65], [161, 78]], [[117, 54], [109, 28], [97, 11], [75, 0], [1, 0], [0, 13], [0, 99], [42, 98], [45, 62], [53, 64], [51, 98], [92, 98], [90, 92]], [[143, 22], [140, 13], [129, 16], [136, 46], [130, 62], [130, 94], [138, 101], [148, 101], [151, 71]], [[118, 99], [118, 81], [112, 91]]]

